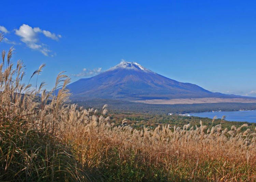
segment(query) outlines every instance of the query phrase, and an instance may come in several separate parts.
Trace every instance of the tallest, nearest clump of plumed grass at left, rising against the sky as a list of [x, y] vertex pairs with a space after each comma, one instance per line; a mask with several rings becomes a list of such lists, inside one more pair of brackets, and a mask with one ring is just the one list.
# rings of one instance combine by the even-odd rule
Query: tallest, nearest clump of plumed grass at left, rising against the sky
[[[59, 137], [61, 116], [69, 109], [69, 78], [59, 74], [50, 92], [42, 90], [44, 83], [32, 89], [23, 83], [23, 62], [14, 66], [13, 51], [2, 51], [0, 64], [0, 181], [88, 180], [73, 149]], [[58, 87], [61, 89], [54, 95]]]

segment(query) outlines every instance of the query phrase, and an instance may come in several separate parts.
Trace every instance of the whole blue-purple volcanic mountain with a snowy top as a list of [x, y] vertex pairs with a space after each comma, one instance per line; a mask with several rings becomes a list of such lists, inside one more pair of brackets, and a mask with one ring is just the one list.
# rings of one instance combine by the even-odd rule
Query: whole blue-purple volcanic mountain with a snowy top
[[111, 98], [130, 101], [144, 99], [239, 97], [213, 93], [195, 84], [181, 83], [152, 72], [136, 62], [121, 62], [91, 78], [68, 85], [73, 99]]

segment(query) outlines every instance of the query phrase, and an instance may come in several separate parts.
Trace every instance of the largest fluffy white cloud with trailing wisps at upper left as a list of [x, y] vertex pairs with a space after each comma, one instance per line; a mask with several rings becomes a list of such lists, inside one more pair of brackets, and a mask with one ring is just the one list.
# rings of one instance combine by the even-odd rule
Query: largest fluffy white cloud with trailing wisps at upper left
[[51, 33], [46, 30], [41, 30], [39, 27], [32, 28], [31, 26], [26, 24], [21, 25], [18, 30], [15, 30], [15, 34], [21, 37], [21, 41], [26, 43], [26, 45], [30, 49], [38, 50], [43, 55], [49, 56], [49, 53], [52, 51], [47, 48], [46, 44], [39, 43], [39, 33], [42, 33], [44, 36], [51, 38], [53, 40], [59, 40], [59, 38], [61, 38], [61, 35], [56, 36], [56, 34], [54, 33]]

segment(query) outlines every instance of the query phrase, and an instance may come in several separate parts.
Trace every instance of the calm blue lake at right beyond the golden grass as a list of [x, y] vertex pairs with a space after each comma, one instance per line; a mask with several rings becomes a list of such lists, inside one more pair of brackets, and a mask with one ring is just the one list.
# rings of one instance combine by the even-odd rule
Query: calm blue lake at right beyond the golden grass
[[199, 113], [189, 113], [190, 116], [198, 117], [209, 117], [213, 119], [217, 116], [217, 119], [221, 119], [222, 116], [226, 116], [226, 121], [247, 121], [250, 123], [256, 123], [256, 110], [250, 111], [229, 111], [229, 112], [199, 112]]

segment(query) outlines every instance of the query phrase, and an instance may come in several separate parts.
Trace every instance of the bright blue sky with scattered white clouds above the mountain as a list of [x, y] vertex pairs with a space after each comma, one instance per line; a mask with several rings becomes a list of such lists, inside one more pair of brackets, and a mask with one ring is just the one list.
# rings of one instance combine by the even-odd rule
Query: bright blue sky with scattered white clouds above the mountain
[[[52, 88], [122, 59], [214, 92], [256, 96], [256, 1], [3, 1], [1, 49]], [[6, 31], [7, 30], [7, 31]]]

